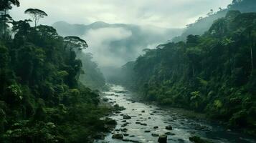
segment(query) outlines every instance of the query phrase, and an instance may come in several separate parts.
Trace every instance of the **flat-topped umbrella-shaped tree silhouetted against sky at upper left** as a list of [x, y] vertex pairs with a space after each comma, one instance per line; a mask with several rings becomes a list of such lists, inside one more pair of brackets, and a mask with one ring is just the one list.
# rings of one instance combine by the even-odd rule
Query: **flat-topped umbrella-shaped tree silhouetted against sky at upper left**
[[32, 17], [32, 19], [34, 21], [34, 27], [37, 27], [39, 19], [42, 19], [45, 16], [48, 16], [44, 11], [42, 11], [40, 9], [27, 9], [25, 11], [25, 14], [29, 14], [29, 16]]

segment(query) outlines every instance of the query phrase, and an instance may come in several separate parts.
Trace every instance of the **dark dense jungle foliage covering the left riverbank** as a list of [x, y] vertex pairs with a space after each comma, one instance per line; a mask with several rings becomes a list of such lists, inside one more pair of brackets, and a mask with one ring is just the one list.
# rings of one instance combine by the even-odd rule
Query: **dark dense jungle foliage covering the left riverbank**
[[13, 21], [11, 6], [19, 1], [0, 1], [0, 142], [92, 142], [108, 109], [78, 82], [79, 38]]

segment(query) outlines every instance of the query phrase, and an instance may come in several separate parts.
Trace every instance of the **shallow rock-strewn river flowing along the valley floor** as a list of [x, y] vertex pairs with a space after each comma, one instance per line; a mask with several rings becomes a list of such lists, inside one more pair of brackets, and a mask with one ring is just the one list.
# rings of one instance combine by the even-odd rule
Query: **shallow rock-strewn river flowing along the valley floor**
[[[104, 97], [109, 99], [111, 104], [118, 104], [125, 107], [120, 113], [110, 115], [118, 125], [115, 130], [106, 134], [104, 140], [95, 142], [124, 142], [119, 139], [112, 139], [113, 134], [125, 134], [124, 139], [128, 142], [152, 142], [155, 143], [158, 137], [152, 134], [166, 134], [169, 132], [167, 142], [190, 142], [189, 137], [198, 135], [212, 142], [237, 142], [254, 143], [254, 137], [249, 137], [238, 132], [227, 131], [219, 124], [203, 121], [202, 119], [192, 119], [186, 116], [181, 109], [159, 108], [155, 105], [134, 102], [131, 93], [123, 87], [111, 85], [110, 91], [104, 92]], [[123, 114], [131, 116], [131, 119], [123, 119]], [[171, 125], [172, 130], [167, 130], [166, 126]], [[123, 127], [122, 127], [123, 126]], [[158, 128], [156, 128], [158, 127]], [[127, 129], [127, 131], [124, 131]]]

